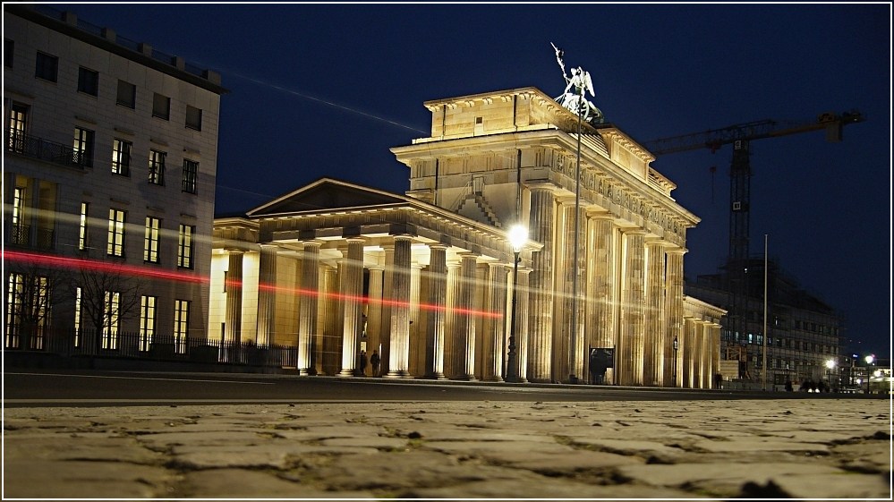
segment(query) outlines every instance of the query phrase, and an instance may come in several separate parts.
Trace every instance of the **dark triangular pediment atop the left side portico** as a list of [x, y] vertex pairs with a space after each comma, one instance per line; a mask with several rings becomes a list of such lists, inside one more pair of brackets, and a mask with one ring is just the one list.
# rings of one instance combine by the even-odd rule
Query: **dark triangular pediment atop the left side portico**
[[406, 203], [399, 195], [323, 178], [251, 209], [250, 217], [307, 213], [340, 208], [365, 208]]

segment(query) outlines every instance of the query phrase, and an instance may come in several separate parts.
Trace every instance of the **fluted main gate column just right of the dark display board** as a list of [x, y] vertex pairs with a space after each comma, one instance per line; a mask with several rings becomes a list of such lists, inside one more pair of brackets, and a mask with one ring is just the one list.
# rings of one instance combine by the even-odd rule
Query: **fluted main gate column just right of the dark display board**
[[621, 305], [621, 375], [622, 385], [643, 385], [643, 352], [645, 332], [645, 232], [625, 232], [624, 302]]

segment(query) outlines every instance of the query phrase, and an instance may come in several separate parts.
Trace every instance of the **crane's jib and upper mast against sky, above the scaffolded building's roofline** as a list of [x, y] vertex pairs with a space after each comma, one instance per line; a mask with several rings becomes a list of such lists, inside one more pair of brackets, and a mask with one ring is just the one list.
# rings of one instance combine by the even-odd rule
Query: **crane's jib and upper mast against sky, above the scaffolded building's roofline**
[[671, 138], [646, 141], [643, 146], [659, 157], [694, 149], [710, 149], [715, 152], [723, 145], [733, 145], [733, 160], [729, 178], [729, 253], [728, 261], [748, 259], [748, 234], [751, 208], [751, 162], [749, 143], [764, 138], [778, 138], [801, 132], [826, 131], [826, 140], [838, 142], [842, 129], [849, 123], [863, 122], [864, 116], [857, 111], [843, 114], [824, 113], [815, 120], [786, 122], [760, 120], [738, 123], [722, 129], [693, 132]]

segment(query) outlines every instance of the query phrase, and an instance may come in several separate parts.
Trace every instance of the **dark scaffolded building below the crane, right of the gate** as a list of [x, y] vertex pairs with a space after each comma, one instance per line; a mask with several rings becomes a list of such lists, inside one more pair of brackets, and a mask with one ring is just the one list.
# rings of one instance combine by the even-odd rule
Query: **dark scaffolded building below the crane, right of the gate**
[[[748, 260], [741, 270], [727, 267], [685, 285], [687, 294], [728, 310], [721, 357], [738, 362], [738, 378], [754, 381], [763, 379], [763, 263], [763, 258]], [[805, 291], [776, 261], [768, 261], [767, 272], [767, 386], [781, 388], [786, 379], [796, 385], [805, 379], [836, 384], [851, 365], [843, 353], [839, 312]]]

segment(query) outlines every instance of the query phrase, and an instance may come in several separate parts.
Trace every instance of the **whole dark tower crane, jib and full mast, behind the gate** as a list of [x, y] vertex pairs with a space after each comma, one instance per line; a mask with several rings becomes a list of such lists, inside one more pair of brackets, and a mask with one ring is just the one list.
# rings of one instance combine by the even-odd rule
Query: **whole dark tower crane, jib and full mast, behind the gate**
[[[733, 145], [733, 159], [729, 168], [729, 252], [726, 268], [730, 294], [730, 308], [728, 308], [727, 314], [728, 327], [736, 334], [744, 336], [748, 332], [747, 297], [751, 290], [748, 277], [748, 235], [751, 209], [750, 142], [820, 130], [825, 130], [827, 141], [837, 142], [842, 139], [842, 129], [845, 125], [864, 120], [864, 116], [856, 111], [840, 115], [824, 113], [811, 121], [761, 120], [644, 143], [643, 146], [656, 157], [694, 149], [710, 149], [711, 152], [715, 152], [723, 145]], [[741, 356], [739, 359], [739, 371], [742, 373], [747, 370], [747, 362], [741, 361]]]

